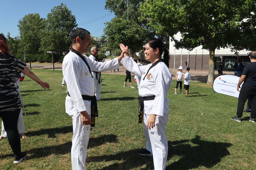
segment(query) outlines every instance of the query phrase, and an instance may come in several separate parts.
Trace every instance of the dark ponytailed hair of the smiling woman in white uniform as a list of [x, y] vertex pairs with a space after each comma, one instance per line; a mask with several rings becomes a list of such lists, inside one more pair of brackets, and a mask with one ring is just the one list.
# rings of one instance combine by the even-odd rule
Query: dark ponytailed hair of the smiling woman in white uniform
[[163, 60], [164, 60], [164, 63], [169, 68], [169, 60], [170, 60], [169, 51], [166, 48], [164, 48], [164, 44], [163, 44], [162, 40], [153, 38], [151, 40], [148, 40], [147, 43], [151, 48], [153, 48], [153, 49], [158, 48], [159, 49], [160, 58], [161, 58], [161, 56], [163, 54], [163, 51], [164, 51]]

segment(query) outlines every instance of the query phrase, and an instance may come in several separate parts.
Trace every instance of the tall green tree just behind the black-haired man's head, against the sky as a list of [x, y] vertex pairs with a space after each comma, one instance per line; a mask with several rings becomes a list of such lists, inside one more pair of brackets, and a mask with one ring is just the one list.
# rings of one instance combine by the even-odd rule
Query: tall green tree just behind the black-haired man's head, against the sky
[[54, 52], [62, 53], [71, 44], [69, 34], [77, 26], [75, 15], [71, 13], [71, 10], [61, 3], [55, 6], [44, 20], [45, 29], [42, 32], [41, 49], [51, 51], [52, 70], [54, 70]]

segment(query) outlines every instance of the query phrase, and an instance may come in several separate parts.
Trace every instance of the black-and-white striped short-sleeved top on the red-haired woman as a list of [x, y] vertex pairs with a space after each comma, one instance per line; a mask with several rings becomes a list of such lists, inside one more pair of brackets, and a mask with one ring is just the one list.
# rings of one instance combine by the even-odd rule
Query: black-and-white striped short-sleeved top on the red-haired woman
[[0, 112], [21, 108], [16, 82], [25, 67], [16, 57], [0, 52]]

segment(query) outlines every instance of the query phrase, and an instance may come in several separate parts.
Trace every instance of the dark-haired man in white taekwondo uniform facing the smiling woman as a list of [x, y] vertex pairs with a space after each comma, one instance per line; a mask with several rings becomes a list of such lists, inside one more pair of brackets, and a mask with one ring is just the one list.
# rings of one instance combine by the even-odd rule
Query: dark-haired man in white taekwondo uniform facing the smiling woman
[[[86, 170], [87, 145], [91, 120], [93, 120], [91, 119], [91, 102], [96, 101], [96, 98], [93, 98], [94, 81], [91, 72], [118, 69], [118, 60], [121, 60], [121, 56], [104, 63], [92, 61], [83, 55], [91, 45], [90, 33], [83, 28], [76, 28], [70, 37], [72, 48], [64, 57], [62, 69], [68, 87], [66, 112], [73, 120], [71, 161], [73, 170]], [[87, 99], [84, 100], [84, 97]], [[93, 99], [88, 100], [88, 98]]]

